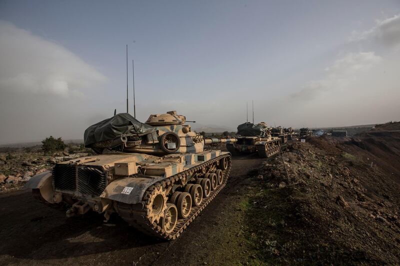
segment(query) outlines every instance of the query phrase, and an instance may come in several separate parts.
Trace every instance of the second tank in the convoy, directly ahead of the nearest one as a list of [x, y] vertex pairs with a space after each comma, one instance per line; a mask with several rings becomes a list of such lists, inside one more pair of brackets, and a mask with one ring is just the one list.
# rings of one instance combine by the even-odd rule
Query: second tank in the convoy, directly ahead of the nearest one
[[227, 143], [227, 150], [233, 155], [257, 153], [260, 157], [271, 157], [280, 151], [281, 139], [273, 137], [265, 122], [254, 125], [243, 123], [237, 126], [236, 142]]

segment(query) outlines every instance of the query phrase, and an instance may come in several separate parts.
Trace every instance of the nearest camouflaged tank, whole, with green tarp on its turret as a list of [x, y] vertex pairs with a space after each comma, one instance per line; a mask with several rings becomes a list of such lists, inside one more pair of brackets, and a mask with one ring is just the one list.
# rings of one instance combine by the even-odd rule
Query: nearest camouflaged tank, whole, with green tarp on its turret
[[118, 114], [85, 131], [85, 146], [97, 153], [57, 163], [32, 177], [25, 188], [66, 216], [89, 211], [108, 221], [116, 213], [136, 229], [173, 240], [225, 186], [231, 155], [205, 144], [235, 139], [203, 138], [176, 111], [140, 123]]

